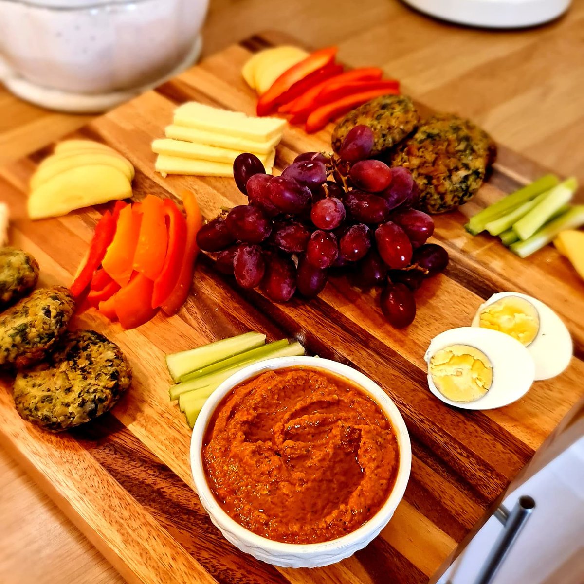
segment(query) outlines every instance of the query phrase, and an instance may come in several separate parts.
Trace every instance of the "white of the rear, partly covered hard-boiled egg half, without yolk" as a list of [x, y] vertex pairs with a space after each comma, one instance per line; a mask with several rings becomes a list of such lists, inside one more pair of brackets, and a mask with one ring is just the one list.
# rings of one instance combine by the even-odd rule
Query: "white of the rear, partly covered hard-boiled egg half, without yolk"
[[483, 308], [507, 296], [524, 298], [534, 305], [540, 317], [540, 329], [537, 331], [537, 336], [526, 347], [536, 366], [536, 381], [550, 379], [562, 373], [572, 359], [572, 338], [566, 325], [558, 315], [546, 304], [537, 300], [537, 298], [519, 292], [500, 292], [499, 294], [493, 294], [477, 310], [477, 314], [475, 314], [472, 320], [472, 326], [479, 326], [479, 315]]

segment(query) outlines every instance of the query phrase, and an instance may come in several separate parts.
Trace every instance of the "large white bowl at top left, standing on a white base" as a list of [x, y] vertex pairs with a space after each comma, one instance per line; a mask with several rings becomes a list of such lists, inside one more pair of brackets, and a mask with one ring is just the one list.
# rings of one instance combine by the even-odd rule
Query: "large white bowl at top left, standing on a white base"
[[208, 0], [0, 0], [0, 75], [8, 86], [16, 82], [17, 93], [20, 82], [29, 90], [88, 96], [88, 103], [139, 91], [198, 56], [207, 6]]

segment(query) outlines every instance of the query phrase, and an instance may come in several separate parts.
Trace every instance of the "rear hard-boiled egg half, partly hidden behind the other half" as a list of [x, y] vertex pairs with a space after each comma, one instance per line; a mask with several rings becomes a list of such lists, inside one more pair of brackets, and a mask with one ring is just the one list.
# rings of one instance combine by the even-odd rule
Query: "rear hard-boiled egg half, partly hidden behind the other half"
[[522, 343], [535, 363], [536, 380], [559, 375], [572, 358], [566, 325], [550, 307], [526, 294], [494, 294], [479, 307], [472, 326], [505, 333]]

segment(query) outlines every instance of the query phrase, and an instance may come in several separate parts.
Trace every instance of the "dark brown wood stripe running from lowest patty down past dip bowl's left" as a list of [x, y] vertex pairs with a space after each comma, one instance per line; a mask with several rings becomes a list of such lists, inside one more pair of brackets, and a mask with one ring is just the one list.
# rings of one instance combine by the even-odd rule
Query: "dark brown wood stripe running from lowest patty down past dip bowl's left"
[[222, 584], [289, 584], [231, 545], [194, 491], [111, 414], [72, 432], [117, 482]]

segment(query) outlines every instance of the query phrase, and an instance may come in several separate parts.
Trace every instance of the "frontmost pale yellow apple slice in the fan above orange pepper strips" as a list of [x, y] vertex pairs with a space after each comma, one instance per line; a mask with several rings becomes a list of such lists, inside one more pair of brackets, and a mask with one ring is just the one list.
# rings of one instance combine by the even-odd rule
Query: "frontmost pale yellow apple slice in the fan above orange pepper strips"
[[132, 196], [127, 176], [110, 165], [78, 166], [34, 189], [27, 202], [29, 217], [59, 217], [74, 209]]

